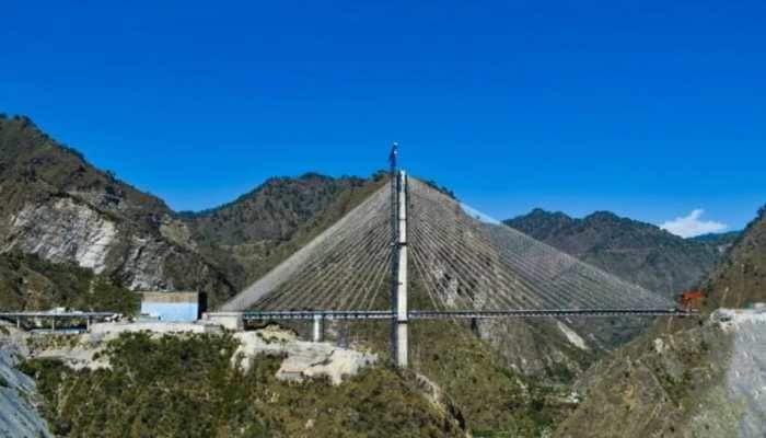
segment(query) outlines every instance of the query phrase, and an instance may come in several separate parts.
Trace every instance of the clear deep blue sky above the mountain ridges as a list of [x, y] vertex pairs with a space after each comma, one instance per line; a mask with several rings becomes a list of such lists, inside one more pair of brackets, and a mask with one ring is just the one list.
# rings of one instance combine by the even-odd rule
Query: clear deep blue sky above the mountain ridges
[[0, 112], [175, 209], [367, 175], [398, 140], [494, 217], [738, 229], [766, 203], [765, 22], [745, 0], [7, 2]]

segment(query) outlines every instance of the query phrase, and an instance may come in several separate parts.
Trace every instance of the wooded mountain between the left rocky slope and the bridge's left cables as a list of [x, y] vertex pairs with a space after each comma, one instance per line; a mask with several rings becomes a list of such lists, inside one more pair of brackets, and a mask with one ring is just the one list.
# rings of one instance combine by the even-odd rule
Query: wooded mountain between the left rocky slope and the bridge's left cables
[[181, 217], [200, 251], [221, 265], [240, 267], [230, 278], [241, 290], [297, 250], [302, 237], [332, 224], [328, 217], [341, 217], [382, 181], [381, 174], [370, 180], [317, 173], [274, 177], [232, 203]]

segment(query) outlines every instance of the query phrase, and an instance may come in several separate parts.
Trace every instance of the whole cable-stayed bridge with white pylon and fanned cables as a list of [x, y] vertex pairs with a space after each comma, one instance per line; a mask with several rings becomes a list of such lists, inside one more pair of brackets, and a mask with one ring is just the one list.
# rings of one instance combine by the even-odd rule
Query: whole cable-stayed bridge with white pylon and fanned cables
[[462, 205], [392, 166], [391, 181], [227, 302], [243, 320], [685, 316], [626, 283]]

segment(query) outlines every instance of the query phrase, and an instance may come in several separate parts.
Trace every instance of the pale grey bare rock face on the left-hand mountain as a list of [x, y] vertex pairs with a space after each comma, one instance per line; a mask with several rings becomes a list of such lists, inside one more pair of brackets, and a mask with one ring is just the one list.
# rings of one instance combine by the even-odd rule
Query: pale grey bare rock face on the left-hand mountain
[[[165, 233], [183, 241], [188, 230], [169, 219]], [[181, 245], [161, 232], [142, 230], [82, 198], [66, 195], [24, 205], [12, 216], [0, 249], [36, 254], [54, 263], [71, 262], [118, 278], [134, 290], [230, 291], [188, 242]]]

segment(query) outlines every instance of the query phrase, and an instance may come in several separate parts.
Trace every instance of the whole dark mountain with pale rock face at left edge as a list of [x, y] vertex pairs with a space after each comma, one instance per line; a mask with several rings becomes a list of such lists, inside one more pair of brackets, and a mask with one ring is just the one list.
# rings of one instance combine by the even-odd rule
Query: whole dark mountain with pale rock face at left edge
[[0, 252], [74, 263], [129, 289], [234, 287], [160, 199], [90, 165], [28, 118], [0, 119]]

